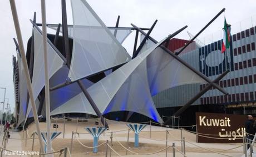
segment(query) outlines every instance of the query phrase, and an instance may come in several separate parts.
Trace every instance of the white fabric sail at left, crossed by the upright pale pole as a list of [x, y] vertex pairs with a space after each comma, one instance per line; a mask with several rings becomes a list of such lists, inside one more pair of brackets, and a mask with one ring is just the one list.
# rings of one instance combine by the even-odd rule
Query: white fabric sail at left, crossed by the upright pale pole
[[[43, 87], [45, 87], [45, 63], [43, 62], [43, 36], [41, 32], [34, 27], [34, 44], [35, 44], [35, 54], [34, 54], [34, 69], [33, 69], [33, 79], [32, 88], [34, 98], [36, 99], [40, 94]], [[47, 53], [48, 53], [48, 75], [49, 78], [52, 77], [60, 68], [63, 67], [64, 61], [56, 50], [47, 42]], [[31, 112], [31, 102], [29, 100], [26, 119]]]

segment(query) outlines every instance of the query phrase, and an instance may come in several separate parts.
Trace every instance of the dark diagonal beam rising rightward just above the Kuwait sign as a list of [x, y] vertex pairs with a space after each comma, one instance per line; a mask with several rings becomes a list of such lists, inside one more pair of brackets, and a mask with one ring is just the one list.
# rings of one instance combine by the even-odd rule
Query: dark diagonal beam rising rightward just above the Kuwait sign
[[[219, 80], [221, 80], [225, 75], [229, 73], [229, 70], [225, 71], [224, 73], [220, 74], [216, 79], [213, 80], [210, 84], [208, 84], [203, 90], [201, 90], [198, 94], [195, 95], [194, 98], [190, 99], [188, 103], [183, 105], [177, 112], [175, 112], [173, 115], [175, 117], [178, 117], [181, 113], [183, 113], [188, 107], [190, 107], [191, 104], [193, 104], [197, 99], [199, 99], [204, 93], [206, 93], [211, 87], [213, 87], [213, 84], [218, 83]], [[169, 124], [171, 121], [171, 118], [165, 121], [164, 124]]]

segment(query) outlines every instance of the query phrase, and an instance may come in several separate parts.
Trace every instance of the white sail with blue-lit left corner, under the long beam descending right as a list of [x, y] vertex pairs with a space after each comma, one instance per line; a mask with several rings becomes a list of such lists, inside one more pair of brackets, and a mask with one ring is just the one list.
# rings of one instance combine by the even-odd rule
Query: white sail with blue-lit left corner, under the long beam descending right
[[[145, 36], [141, 36], [141, 40]], [[151, 48], [155, 43], [147, 39], [140, 54]], [[147, 57], [147, 77], [151, 95], [178, 85], [207, 83], [198, 74], [190, 70], [177, 59], [158, 47]]]

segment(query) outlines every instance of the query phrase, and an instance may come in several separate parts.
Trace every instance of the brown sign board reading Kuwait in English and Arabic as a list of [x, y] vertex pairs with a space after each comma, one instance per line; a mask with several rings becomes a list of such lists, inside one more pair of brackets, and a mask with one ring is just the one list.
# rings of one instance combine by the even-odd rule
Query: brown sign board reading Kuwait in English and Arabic
[[198, 143], [242, 143], [246, 115], [197, 112]]

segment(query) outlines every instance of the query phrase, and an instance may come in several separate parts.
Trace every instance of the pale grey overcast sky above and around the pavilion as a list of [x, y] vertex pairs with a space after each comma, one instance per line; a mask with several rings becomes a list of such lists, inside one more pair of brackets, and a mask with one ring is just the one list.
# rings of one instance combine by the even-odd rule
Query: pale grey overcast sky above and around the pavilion
[[[70, 1], [67, 1], [68, 23], [72, 24], [72, 12]], [[16, 0], [19, 23], [21, 25], [23, 42], [26, 47], [27, 40], [32, 34], [32, 25], [29, 19], [33, 18], [33, 12], [37, 12], [37, 22], [41, 23], [40, 0]], [[227, 22], [232, 24], [232, 31], [255, 26], [256, 16], [255, 0], [247, 1], [168, 1], [168, 0], [88, 0], [94, 11], [99, 15], [106, 26], [115, 26], [117, 16], [120, 15], [120, 27], [130, 27], [130, 23], [139, 27], [151, 27], [155, 19], [158, 20], [151, 36], [161, 40], [175, 32], [177, 29], [188, 25], [178, 38], [189, 39], [186, 31], [196, 34], [211, 18], [222, 8], [226, 8], [224, 14], [203, 32], [199, 39], [204, 42], [204, 37], [220, 39], [221, 28], [224, 24], [224, 15]], [[46, 0], [47, 23], [61, 23], [61, 0]], [[8, 0], [0, 2], [0, 87], [7, 88], [6, 97], [14, 108], [14, 90], [12, 79], [12, 55], [16, 55], [13, 37], [14, 30], [11, 7]], [[242, 21], [242, 23], [240, 23]], [[213, 34], [213, 35], [212, 35]], [[131, 53], [135, 33], [132, 33], [124, 42], [125, 48]], [[26, 49], [26, 48], [25, 48]], [[3, 100], [3, 89], [0, 89], [0, 102]], [[0, 107], [2, 109], [2, 107]]]

